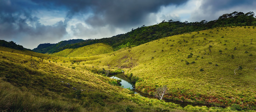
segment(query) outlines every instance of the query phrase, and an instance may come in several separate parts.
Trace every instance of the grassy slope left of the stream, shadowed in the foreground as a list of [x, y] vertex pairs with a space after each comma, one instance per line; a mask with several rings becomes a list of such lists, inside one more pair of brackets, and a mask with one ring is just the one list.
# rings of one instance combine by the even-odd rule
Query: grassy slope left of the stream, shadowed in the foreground
[[[0, 111], [182, 112], [185, 110], [173, 103], [134, 95], [128, 89], [118, 86], [115, 79], [92, 73], [91, 68], [102, 70], [105, 66], [84, 64], [87, 59], [93, 60], [98, 57], [42, 58], [1, 50]], [[106, 67], [106, 70], [116, 69]]]

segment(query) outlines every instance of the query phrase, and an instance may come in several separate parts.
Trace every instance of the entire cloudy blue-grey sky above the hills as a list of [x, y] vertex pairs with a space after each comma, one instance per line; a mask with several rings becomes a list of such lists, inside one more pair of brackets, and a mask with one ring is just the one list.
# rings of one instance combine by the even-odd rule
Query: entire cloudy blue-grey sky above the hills
[[34, 49], [40, 43], [112, 37], [163, 20], [256, 13], [255, 6], [256, 0], [0, 0], [0, 40]]

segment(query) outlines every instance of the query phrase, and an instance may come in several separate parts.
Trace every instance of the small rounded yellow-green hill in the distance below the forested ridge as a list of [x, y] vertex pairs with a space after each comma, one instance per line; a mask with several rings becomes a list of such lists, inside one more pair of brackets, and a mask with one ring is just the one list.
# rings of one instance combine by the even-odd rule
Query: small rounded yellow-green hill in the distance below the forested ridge
[[64, 57], [85, 57], [106, 54], [110, 52], [113, 52], [111, 46], [103, 43], [96, 43], [77, 49], [64, 49], [60, 52], [53, 53], [52, 55]]

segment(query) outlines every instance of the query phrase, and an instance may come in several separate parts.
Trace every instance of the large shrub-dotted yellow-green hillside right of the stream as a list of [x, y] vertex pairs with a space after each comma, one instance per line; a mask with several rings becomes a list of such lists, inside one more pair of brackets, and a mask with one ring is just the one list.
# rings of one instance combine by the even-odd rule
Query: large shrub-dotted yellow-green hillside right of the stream
[[110, 55], [86, 63], [121, 68], [139, 77], [136, 89], [150, 95], [167, 85], [168, 99], [256, 109], [253, 26], [175, 35]]

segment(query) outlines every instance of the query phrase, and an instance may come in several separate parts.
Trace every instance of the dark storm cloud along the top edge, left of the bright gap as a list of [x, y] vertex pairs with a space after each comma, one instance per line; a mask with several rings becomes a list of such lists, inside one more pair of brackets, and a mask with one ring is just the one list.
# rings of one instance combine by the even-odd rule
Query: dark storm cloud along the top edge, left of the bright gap
[[92, 13], [85, 22], [92, 26], [130, 26], [141, 23], [149, 13], [161, 6], [179, 5], [187, 0], [33, 0], [46, 7], [66, 7], [67, 18], [75, 14]]

